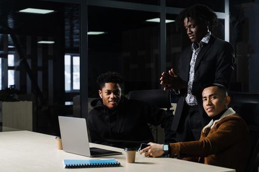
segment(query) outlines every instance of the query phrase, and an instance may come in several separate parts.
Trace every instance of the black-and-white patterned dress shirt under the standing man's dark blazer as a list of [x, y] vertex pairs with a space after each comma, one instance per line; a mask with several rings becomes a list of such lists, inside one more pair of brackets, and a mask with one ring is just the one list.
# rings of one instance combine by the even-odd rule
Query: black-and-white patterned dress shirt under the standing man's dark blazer
[[187, 86], [187, 95], [185, 97], [185, 101], [189, 106], [198, 105], [196, 96], [194, 96], [191, 92], [192, 83], [193, 83], [194, 77], [195, 77], [194, 76], [194, 66], [195, 66], [195, 61], [196, 61], [196, 58], [197, 58], [200, 50], [202, 49], [204, 44], [208, 44], [210, 37], [211, 37], [211, 32], [208, 32], [200, 41], [200, 46], [196, 42], [192, 43], [192, 45], [191, 45], [192, 56], [191, 56], [191, 60], [190, 60], [190, 72], [189, 72], [189, 81], [188, 81], [188, 86]]

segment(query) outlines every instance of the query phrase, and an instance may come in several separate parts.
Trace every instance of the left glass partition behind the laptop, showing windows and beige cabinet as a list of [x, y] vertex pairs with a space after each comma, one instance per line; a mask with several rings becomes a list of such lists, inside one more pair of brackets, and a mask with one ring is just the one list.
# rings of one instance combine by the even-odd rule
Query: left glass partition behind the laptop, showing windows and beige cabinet
[[80, 89], [79, 5], [1, 0], [0, 15], [0, 131], [59, 135], [58, 115], [74, 116]]

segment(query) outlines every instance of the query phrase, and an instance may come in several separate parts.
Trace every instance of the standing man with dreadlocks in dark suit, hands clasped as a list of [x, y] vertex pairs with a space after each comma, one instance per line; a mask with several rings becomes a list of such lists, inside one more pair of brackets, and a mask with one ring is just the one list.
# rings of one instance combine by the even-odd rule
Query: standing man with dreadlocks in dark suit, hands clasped
[[174, 89], [180, 96], [172, 124], [178, 142], [199, 140], [201, 129], [210, 121], [202, 108], [202, 88], [208, 83], [228, 87], [234, 66], [230, 43], [214, 37], [217, 15], [205, 5], [184, 9], [176, 19], [177, 29], [185, 28], [192, 42], [182, 51], [179, 73], [162, 73], [164, 89]]

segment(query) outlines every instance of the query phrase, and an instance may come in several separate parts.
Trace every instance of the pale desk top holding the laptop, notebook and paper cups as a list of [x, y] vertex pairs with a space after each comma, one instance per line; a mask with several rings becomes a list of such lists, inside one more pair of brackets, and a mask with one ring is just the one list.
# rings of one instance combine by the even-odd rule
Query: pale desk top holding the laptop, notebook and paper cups
[[[90, 145], [123, 151], [120, 148], [100, 144]], [[115, 158], [122, 166], [64, 169], [63, 159], [90, 158], [57, 150], [54, 136], [30, 131], [0, 132], [0, 172], [235, 172], [232, 169], [173, 158], [148, 158], [139, 153], [136, 153], [136, 163], [133, 164], [125, 162], [124, 154], [100, 158]]]

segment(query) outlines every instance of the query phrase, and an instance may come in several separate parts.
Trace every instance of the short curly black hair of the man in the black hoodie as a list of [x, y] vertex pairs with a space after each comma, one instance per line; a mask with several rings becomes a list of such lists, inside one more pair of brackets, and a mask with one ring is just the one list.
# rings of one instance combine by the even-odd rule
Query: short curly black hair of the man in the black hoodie
[[123, 76], [117, 72], [108, 71], [97, 77], [97, 84], [99, 85], [100, 89], [105, 86], [105, 83], [117, 83], [119, 86], [121, 86], [123, 82]]

